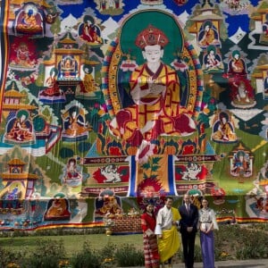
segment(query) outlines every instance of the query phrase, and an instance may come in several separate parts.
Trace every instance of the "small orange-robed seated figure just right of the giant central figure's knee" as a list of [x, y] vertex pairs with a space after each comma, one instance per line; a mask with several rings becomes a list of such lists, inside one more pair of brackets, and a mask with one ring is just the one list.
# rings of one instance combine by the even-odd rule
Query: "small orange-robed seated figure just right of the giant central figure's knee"
[[238, 138], [229, 120], [229, 115], [222, 112], [219, 114], [218, 119], [214, 123], [212, 139], [216, 142], [236, 142]]

